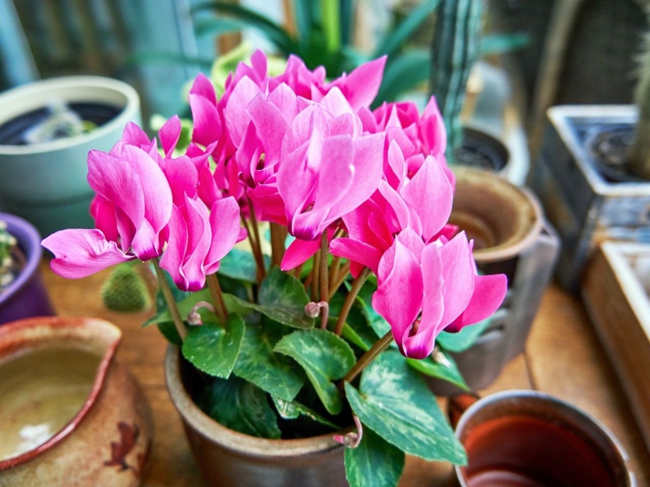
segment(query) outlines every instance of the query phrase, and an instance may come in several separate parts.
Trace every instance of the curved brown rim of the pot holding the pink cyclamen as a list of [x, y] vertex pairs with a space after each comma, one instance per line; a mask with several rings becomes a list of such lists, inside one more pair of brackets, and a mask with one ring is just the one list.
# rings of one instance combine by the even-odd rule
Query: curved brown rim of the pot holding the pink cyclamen
[[[256, 436], [226, 428], [207, 416], [194, 403], [181, 381], [179, 362], [180, 353], [178, 347], [169, 345], [164, 358], [167, 390], [172, 398], [172, 403], [174, 403], [185, 424], [207, 440], [219, 443], [222, 447], [240, 455], [267, 458], [302, 456], [343, 448], [341, 443], [337, 443], [333, 439], [333, 436], [337, 433], [296, 440], [271, 440], [269, 438], [257, 438]], [[342, 433], [344, 432], [346, 431]]]

